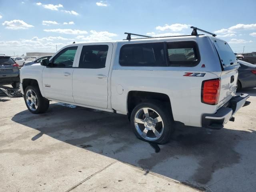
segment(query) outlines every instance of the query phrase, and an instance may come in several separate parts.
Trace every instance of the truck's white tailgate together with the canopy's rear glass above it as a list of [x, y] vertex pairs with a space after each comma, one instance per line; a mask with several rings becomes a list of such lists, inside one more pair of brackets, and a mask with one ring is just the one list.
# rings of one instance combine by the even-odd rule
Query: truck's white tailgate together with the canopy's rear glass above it
[[220, 107], [228, 102], [236, 93], [239, 63], [227, 42], [213, 39], [213, 43], [220, 57], [220, 64], [222, 65], [218, 104]]

